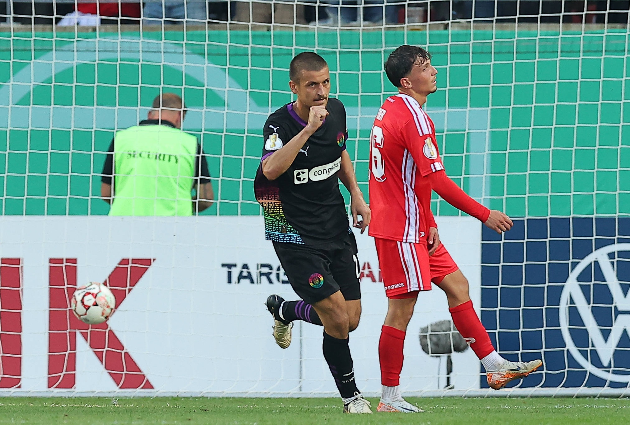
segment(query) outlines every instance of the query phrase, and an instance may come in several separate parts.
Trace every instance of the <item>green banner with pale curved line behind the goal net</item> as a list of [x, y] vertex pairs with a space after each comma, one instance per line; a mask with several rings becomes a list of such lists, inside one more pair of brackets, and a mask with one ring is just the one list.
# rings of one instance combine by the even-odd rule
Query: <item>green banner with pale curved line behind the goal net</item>
[[[161, 90], [184, 96], [214, 177], [208, 214], [256, 215], [266, 116], [292, 100], [290, 59], [316, 50], [348, 110], [348, 151], [367, 194], [369, 133], [394, 93], [387, 54], [433, 54], [427, 110], [447, 173], [510, 216], [630, 214], [627, 32], [365, 31], [0, 33], [3, 214], [107, 214], [113, 131]], [[458, 212], [435, 200], [436, 214]]]

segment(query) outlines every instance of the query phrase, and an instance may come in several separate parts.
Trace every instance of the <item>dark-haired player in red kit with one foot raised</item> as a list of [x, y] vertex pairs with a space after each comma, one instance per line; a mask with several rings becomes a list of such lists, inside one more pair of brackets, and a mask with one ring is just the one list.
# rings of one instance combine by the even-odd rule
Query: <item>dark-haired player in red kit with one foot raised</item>
[[542, 361], [512, 362], [492, 346], [468, 294], [468, 281], [440, 244], [430, 209], [431, 192], [489, 228], [502, 233], [512, 221], [474, 201], [444, 171], [435, 141], [435, 127], [422, 105], [437, 90], [437, 70], [421, 47], [403, 45], [385, 62], [387, 78], [398, 95], [379, 109], [370, 135], [369, 234], [374, 236], [389, 308], [379, 341], [382, 395], [379, 412], [421, 412], [401, 397], [403, 343], [420, 291], [431, 282], [444, 290], [449, 311], [487, 372], [488, 385], [499, 389], [523, 378]]

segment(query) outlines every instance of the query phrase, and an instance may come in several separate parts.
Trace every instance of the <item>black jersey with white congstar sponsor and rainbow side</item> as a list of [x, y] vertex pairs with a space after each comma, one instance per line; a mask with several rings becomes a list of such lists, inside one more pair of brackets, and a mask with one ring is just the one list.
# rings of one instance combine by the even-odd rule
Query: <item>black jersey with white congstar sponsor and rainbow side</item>
[[312, 134], [284, 174], [268, 180], [262, 160], [281, 149], [306, 127], [292, 103], [265, 122], [263, 156], [254, 181], [256, 200], [263, 207], [265, 237], [275, 242], [324, 243], [348, 233], [348, 215], [337, 173], [346, 149], [348, 129], [343, 103], [329, 98], [328, 116]]

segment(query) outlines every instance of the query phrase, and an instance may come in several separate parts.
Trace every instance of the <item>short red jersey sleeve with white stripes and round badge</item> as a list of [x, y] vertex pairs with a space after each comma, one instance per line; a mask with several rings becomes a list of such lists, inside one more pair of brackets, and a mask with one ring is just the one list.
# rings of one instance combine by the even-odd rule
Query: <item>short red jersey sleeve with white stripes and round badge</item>
[[[424, 112], [421, 114], [426, 117]], [[444, 170], [432, 125], [424, 117], [415, 115], [401, 128], [405, 148], [411, 153], [422, 177]]]

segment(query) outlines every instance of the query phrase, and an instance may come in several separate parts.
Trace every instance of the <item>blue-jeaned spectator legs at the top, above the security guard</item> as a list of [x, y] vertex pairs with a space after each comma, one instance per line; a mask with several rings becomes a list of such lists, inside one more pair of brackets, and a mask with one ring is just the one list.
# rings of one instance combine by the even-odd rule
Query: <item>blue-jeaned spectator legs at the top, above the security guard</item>
[[205, 25], [208, 20], [207, 0], [147, 0], [142, 10], [145, 25], [183, 23]]

